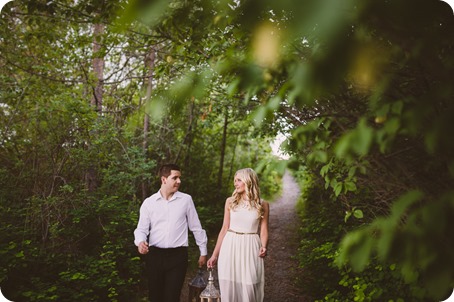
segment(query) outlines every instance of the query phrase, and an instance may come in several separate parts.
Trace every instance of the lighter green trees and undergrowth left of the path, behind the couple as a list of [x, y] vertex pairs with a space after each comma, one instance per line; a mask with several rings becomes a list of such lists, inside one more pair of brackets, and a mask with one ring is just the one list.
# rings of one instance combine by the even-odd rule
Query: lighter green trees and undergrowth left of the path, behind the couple
[[[145, 297], [132, 232], [158, 189], [158, 165], [182, 166], [182, 190], [215, 238], [233, 173], [271, 159], [272, 135], [251, 126], [251, 106], [227, 98], [220, 81], [150, 114], [144, 130], [150, 89], [205, 63], [176, 28], [119, 30], [122, 5], [14, 1], [2, 10], [0, 284], [13, 301]], [[260, 176], [271, 198], [278, 175]]]

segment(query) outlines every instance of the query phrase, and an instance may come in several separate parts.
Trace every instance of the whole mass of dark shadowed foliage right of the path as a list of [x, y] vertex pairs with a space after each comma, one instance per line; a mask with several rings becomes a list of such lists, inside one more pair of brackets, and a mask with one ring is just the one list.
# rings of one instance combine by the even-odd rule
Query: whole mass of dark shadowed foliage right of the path
[[318, 298], [439, 301], [452, 292], [454, 20], [439, 4], [365, 4], [343, 48], [355, 56], [340, 88], [298, 110], [304, 122], [294, 123], [289, 150], [316, 184], [300, 257], [329, 263]]

